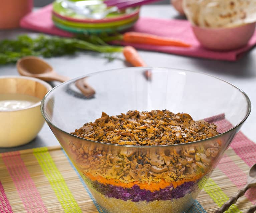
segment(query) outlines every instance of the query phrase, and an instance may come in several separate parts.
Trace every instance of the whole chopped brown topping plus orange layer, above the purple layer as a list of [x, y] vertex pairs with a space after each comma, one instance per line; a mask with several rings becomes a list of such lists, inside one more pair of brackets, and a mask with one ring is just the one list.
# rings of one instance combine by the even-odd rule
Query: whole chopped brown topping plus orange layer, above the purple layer
[[[154, 191], [200, 179], [218, 158], [222, 142], [216, 138], [183, 146], [158, 145], [209, 138], [219, 134], [216, 129], [215, 124], [194, 121], [189, 114], [168, 110], [134, 110], [117, 116], [103, 112], [101, 118], [84, 124], [72, 134], [108, 144], [134, 146], [106, 146], [73, 138], [67, 150], [79, 171], [93, 181], [122, 187], [140, 183], [141, 188]], [[155, 147], [136, 149], [138, 145]]]

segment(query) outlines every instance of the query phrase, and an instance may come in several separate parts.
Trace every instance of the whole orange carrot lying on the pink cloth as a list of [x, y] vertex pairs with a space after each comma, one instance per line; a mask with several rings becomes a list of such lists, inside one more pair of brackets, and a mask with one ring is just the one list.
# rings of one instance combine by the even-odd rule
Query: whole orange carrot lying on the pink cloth
[[172, 38], [166, 38], [161, 36], [156, 36], [147, 33], [139, 32], [126, 32], [123, 34], [123, 41], [129, 43], [137, 44], [151, 44], [159, 46], [178, 46], [178, 47], [190, 47], [190, 44], [187, 44], [182, 41], [178, 41]]

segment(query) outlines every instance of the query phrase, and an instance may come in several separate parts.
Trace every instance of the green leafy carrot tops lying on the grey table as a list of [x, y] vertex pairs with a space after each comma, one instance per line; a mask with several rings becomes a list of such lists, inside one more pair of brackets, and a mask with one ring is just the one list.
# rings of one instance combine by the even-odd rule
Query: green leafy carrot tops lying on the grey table
[[19, 58], [28, 55], [54, 57], [74, 54], [79, 50], [113, 53], [121, 52], [123, 47], [108, 45], [96, 36], [85, 41], [57, 36], [39, 35], [31, 38], [28, 35], [21, 35], [16, 40], [0, 41], [0, 65], [15, 63]]

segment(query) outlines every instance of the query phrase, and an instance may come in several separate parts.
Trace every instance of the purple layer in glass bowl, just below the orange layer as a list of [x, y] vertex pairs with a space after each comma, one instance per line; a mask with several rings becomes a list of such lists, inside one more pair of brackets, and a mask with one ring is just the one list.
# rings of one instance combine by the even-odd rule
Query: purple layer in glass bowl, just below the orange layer
[[154, 201], [154, 200], [172, 200], [184, 197], [186, 194], [198, 190], [196, 182], [185, 182], [174, 188], [172, 185], [154, 192], [150, 190], [140, 189], [138, 185], [133, 185], [131, 188], [114, 186], [111, 184], [102, 184], [98, 181], [86, 179], [86, 182], [96, 191], [102, 193], [109, 198], [121, 199], [124, 201], [131, 200], [132, 202], [139, 201]]

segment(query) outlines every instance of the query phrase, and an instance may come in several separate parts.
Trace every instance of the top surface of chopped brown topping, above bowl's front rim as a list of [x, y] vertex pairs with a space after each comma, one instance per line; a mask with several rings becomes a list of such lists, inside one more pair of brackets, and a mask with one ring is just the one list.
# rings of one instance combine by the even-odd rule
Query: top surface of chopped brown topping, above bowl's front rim
[[139, 112], [109, 116], [86, 123], [71, 133], [82, 138], [119, 145], [171, 145], [202, 140], [219, 134], [215, 124], [194, 121], [189, 114], [169, 110]]

